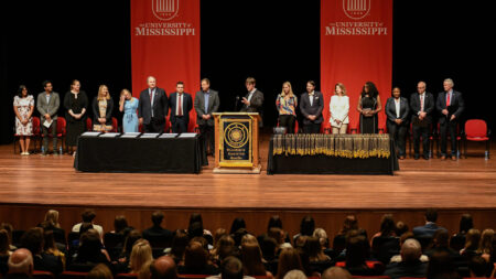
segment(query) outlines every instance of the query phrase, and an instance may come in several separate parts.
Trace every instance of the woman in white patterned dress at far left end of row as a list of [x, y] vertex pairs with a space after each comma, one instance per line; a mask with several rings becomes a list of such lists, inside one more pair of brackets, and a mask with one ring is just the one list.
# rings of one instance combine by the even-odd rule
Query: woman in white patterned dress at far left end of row
[[19, 136], [21, 155], [29, 155], [30, 140], [33, 136], [34, 98], [28, 95], [24, 85], [19, 86], [18, 95], [14, 97], [13, 109], [15, 114], [15, 135]]

